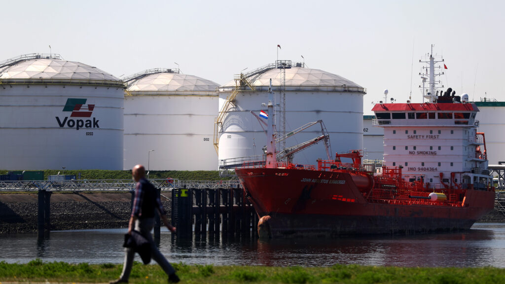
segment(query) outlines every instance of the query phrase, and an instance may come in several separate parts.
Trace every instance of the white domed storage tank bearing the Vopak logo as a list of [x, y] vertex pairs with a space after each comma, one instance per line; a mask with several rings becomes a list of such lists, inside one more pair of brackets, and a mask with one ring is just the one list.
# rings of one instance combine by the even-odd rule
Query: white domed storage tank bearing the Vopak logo
[[0, 63], [0, 169], [123, 168], [124, 86], [59, 55]]

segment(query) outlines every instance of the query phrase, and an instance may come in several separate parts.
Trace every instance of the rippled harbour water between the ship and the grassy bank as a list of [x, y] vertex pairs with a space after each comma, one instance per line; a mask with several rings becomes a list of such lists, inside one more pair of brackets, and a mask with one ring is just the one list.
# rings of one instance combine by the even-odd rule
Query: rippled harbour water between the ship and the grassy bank
[[[0, 235], [0, 260], [26, 263], [35, 258], [70, 263], [121, 263], [126, 229], [53, 231]], [[505, 267], [505, 224], [477, 223], [457, 233], [364, 236], [339, 239], [207, 239], [172, 241], [162, 229], [160, 250], [171, 262], [213, 265]], [[137, 261], [140, 258], [136, 256]]]

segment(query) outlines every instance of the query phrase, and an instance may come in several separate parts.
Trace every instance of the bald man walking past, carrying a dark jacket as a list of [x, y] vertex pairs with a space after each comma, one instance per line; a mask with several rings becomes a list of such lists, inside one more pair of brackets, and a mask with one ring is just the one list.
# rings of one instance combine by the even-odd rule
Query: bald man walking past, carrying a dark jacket
[[[175, 274], [175, 270], [167, 261], [167, 259], [156, 248], [151, 230], [155, 225], [155, 210], [158, 210], [163, 223], [171, 232], [175, 232], [176, 228], [172, 226], [167, 219], [167, 213], [161, 204], [158, 192], [153, 184], [145, 179], [145, 168], [142, 165], [136, 165], [132, 169], [133, 179], [137, 182], [135, 186], [135, 199], [133, 200], [133, 208], [131, 210], [130, 223], [128, 224], [128, 234], [131, 235], [132, 230], [139, 231], [140, 234], [150, 243], [151, 257], [158, 262], [168, 275], [169, 283], [179, 282], [179, 277]], [[133, 248], [125, 248], [125, 261], [123, 264], [123, 272], [119, 279], [111, 281], [115, 283], [128, 283], [131, 268], [133, 265], [133, 257], [135, 251]]]

